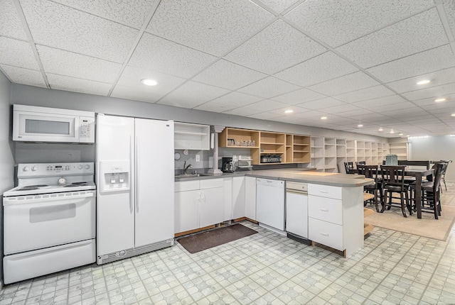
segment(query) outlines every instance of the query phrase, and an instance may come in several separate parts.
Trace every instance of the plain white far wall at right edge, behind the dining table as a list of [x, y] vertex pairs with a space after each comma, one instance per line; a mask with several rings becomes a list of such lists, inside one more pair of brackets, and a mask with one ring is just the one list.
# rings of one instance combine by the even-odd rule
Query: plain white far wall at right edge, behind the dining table
[[[454, 160], [455, 137], [434, 135], [428, 138], [410, 139], [410, 160]], [[446, 181], [455, 182], [455, 163], [447, 167]]]

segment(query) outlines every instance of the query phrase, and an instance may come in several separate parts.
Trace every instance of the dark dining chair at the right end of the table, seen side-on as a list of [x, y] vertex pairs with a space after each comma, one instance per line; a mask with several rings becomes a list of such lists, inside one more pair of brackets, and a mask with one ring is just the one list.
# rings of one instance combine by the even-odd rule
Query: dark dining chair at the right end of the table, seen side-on
[[[448, 163], [437, 163], [434, 170], [434, 179], [432, 182], [422, 183], [422, 212], [434, 213], [434, 218], [439, 219], [441, 216], [441, 180]], [[411, 204], [412, 209], [415, 211], [415, 185], [410, 186], [411, 189]]]

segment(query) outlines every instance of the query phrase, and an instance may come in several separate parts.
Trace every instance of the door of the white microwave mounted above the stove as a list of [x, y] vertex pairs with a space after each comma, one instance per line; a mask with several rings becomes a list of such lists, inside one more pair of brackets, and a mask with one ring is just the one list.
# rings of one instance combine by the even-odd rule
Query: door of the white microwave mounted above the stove
[[14, 111], [13, 140], [32, 142], [79, 142], [78, 116]]

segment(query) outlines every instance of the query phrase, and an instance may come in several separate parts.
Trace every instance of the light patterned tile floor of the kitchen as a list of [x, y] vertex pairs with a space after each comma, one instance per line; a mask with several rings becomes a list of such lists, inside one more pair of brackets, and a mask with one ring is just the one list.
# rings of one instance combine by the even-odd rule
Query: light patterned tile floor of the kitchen
[[[455, 205], [455, 184], [447, 187], [442, 200]], [[258, 233], [196, 254], [176, 243], [9, 284], [0, 305], [455, 304], [455, 229], [443, 242], [374, 228], [346, 260], [242, 224]]]

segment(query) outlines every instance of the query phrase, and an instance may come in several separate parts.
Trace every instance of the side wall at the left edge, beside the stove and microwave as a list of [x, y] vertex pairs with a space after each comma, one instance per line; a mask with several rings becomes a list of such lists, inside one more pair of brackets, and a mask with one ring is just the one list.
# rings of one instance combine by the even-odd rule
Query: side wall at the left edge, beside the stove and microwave
[[[14, 142], [11, 133], [11, 82], [0, 72], [0, 194], [14, 187]], [[0, 199], [3, 202], [3, 196]], [[0, 205], [0, 253], [3, 257], [3, 204]], [[3, 266], [0, 260], [0, 286]], [[1, 287], [0, 287], [1, 289]]]

